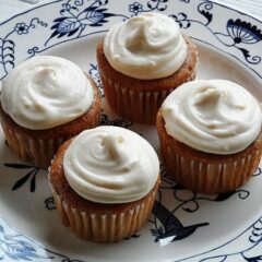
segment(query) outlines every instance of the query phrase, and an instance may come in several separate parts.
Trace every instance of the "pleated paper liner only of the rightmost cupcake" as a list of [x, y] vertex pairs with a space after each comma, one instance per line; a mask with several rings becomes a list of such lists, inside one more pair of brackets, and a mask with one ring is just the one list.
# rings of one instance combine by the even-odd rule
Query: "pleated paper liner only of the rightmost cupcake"
[[261, 159], [261, 150], [240, 159], [207, 163], [183, 157], [176, 148], [160, 141], [163, 162], [168, 175], [179, 184], [202, 193], [223, 193], [243, 186], [254, 172]]

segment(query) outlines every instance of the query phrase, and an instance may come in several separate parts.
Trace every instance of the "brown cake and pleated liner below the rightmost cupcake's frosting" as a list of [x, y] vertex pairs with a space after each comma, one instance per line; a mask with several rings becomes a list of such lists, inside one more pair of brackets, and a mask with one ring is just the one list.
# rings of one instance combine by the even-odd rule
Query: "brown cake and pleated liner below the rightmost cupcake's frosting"
[[167, 174], [177, 183], [195, 192], [224, 193], [243, 186], [259, 166], [262, 131], [246, 150], [229, 155], [194, 150], [167, 134], [160, 110], [157, 114], [160, 154]]

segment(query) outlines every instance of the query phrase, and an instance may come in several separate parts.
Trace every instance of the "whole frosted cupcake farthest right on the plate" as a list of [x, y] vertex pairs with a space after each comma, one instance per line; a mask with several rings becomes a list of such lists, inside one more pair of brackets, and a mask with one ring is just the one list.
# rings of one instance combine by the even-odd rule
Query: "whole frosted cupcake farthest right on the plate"
[[168, 174], [196, 192], [236, 190], [260, 163], [261, 118], [259, 103], [236, 83], [181, 85], [166, 98], [156, 120]]

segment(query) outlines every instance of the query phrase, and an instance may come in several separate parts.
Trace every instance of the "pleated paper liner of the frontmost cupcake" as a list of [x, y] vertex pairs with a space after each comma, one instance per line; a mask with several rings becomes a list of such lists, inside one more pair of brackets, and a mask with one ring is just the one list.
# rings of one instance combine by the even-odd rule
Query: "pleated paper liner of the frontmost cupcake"
[[136, 204], [124, 212], [100, 211], [92, 213], [81, 211], [59, 195], [52, 188], [52, 194], [63, 225], [80, 238], [93, 242], [112, 242], [131, 237], [146, 223], [155, 201], [155, 190], [145, 198], [144, 202]]

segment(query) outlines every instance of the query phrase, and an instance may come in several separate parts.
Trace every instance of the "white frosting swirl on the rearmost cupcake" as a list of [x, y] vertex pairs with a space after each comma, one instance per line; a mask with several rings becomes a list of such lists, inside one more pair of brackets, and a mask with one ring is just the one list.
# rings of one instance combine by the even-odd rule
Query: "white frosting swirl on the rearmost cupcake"
[[170, 17], [147, 13], [115, 25], [104, 40], [104, 52], [114, 69], [134, 79], [160, 79], [184, 62], [187, 44]]

